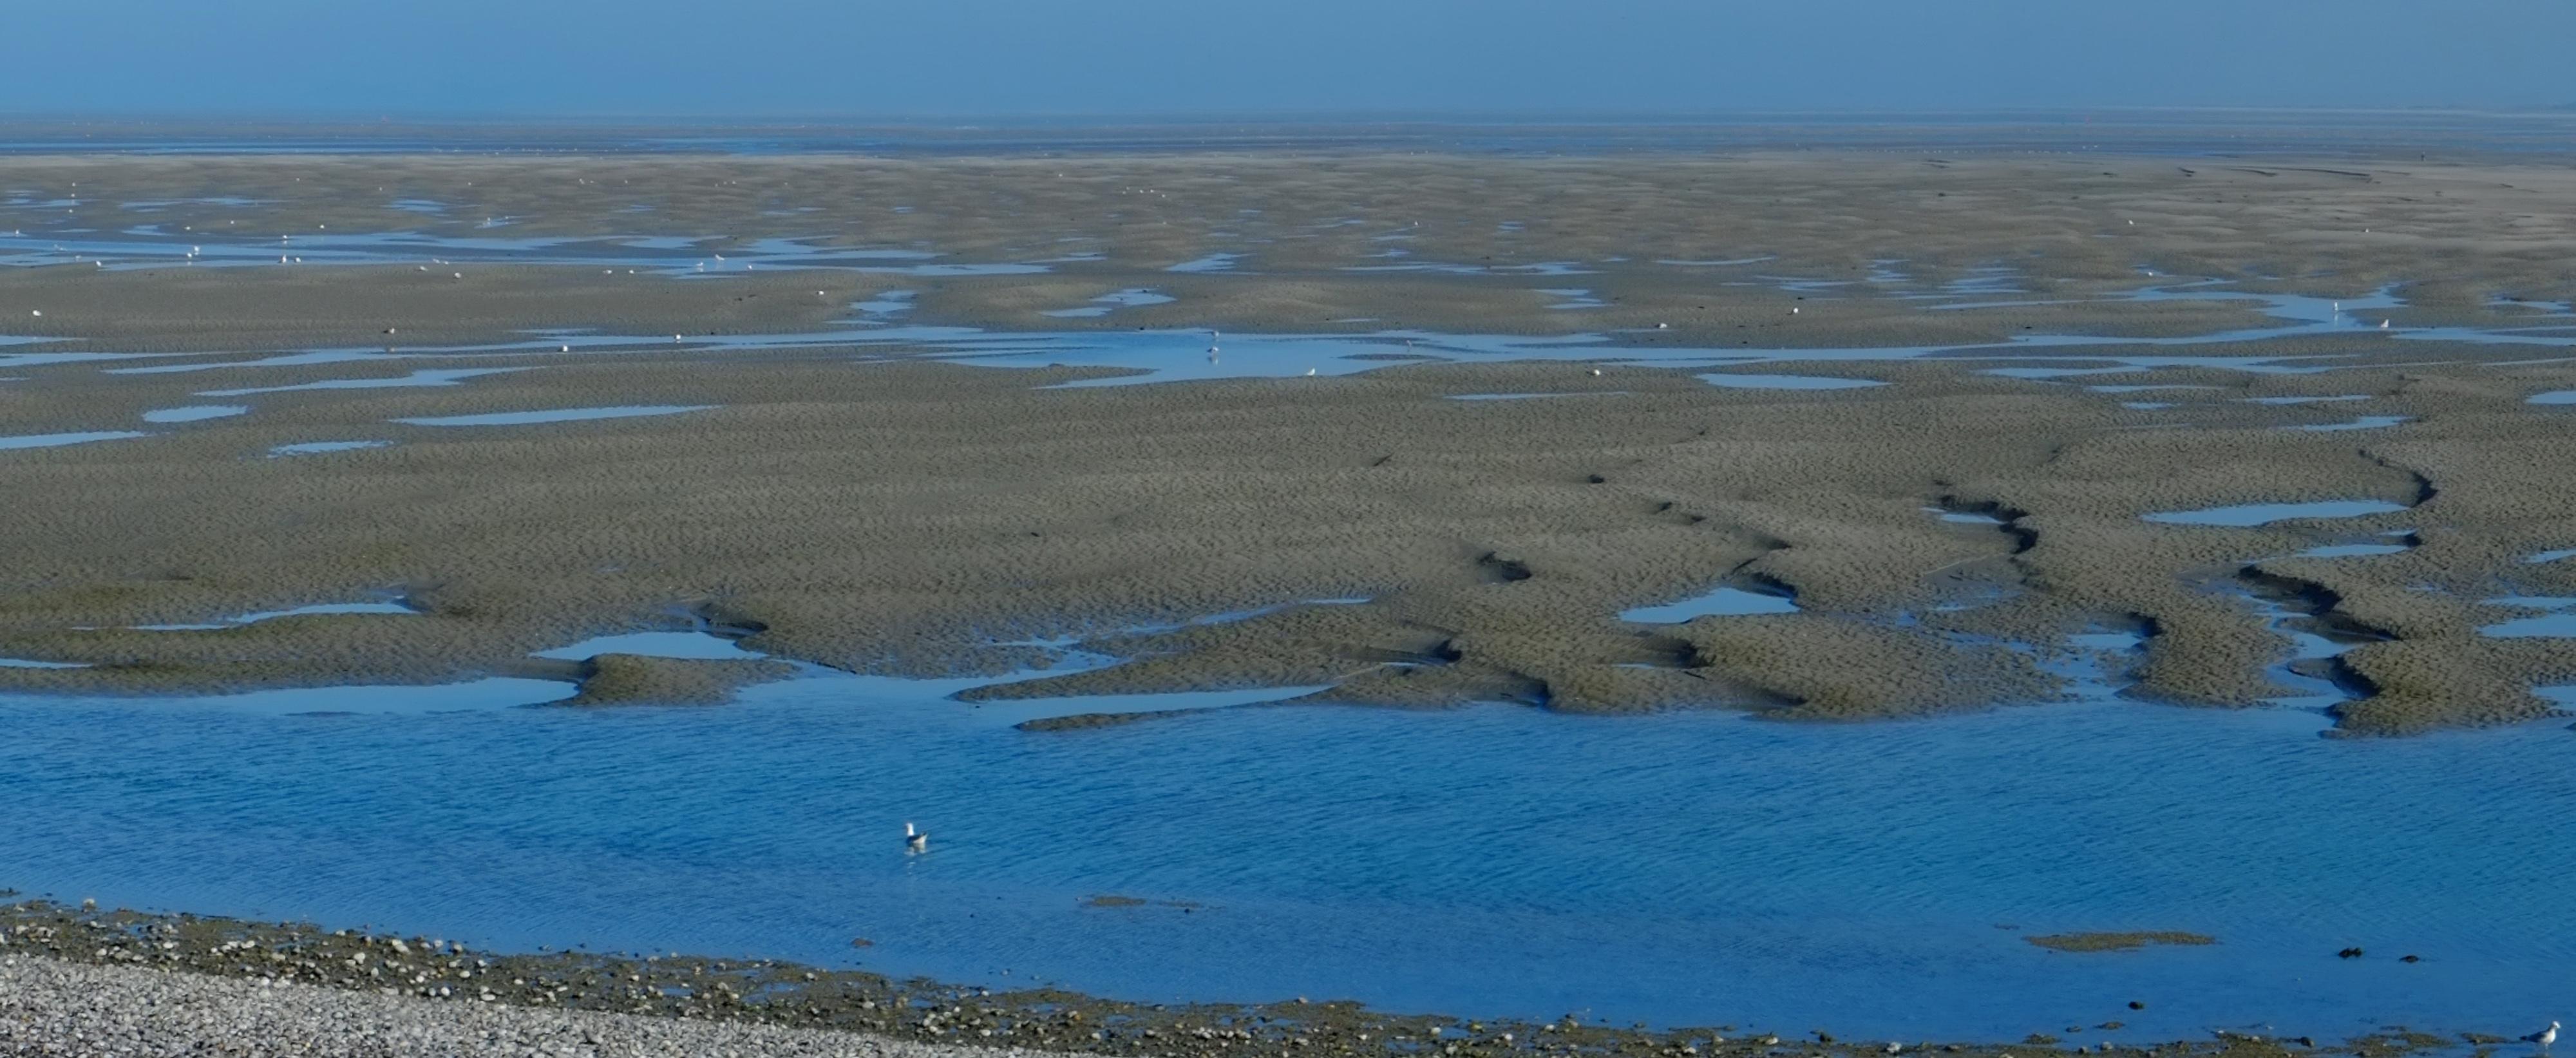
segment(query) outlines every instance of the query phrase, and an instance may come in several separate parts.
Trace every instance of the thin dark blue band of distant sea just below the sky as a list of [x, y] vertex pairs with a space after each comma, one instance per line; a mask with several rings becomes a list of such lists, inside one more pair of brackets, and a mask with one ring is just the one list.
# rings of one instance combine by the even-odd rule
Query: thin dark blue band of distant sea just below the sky
[[10, 154], [1296, 154], [1486, 157], [1759, 149], [2107, 152], [2197, 157], [2568, 154], [2576, 108], [2014, 108], [1741, 113], [1164, 113], [742, 118], [5, 116]]

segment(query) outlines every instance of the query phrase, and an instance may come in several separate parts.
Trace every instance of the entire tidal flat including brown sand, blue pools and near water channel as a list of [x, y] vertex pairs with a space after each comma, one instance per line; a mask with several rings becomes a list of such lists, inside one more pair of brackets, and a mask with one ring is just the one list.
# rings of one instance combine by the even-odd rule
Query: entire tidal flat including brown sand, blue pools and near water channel
[[2550, 160], [0, 185], [0, 886], [1728, 1037], [2576, 1001]]

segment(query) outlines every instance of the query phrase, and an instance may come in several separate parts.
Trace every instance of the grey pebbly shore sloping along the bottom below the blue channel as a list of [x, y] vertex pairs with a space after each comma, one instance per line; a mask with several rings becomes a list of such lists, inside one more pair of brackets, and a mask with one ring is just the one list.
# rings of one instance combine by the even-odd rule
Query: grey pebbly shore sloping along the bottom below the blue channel
[[[2102, 1025], [2117, 1030], [2117, 1022]], [[36, 1053], [376, 1055], [1664, 1055], [1857, 1058], [2102, 1053], [2357, 1058], [2481, 1048], [2383, 1030], [2342, 1043], [2213, 1032], [2210, 1040], [2084, 1045], [1839, 1040], [1829, 1030], [1610, 1027], [1383, 1014], [1352, 1001], [1136, 1004], [1059, 988], [992, 991], [866, 970], [698, 955], [505, 955], [433, 937], [193, 914], [0, 906], [0, 1055]]]

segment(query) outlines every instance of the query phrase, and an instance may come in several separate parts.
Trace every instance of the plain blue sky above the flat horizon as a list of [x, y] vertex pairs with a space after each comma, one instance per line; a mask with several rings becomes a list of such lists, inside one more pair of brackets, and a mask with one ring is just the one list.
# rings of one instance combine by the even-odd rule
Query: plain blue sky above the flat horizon
[[2568, 0], [54, 0], [0, 108], [229, 116], [2566, 106]]

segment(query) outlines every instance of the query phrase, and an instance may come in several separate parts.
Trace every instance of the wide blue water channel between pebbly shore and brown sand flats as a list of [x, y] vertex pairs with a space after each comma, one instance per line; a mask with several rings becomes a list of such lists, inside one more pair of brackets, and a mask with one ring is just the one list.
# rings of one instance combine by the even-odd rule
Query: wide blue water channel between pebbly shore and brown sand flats
[[[2097, 692], [1857, 726], [1242, 705], [1041, 734], [1012, 723], [1303, 687], [943, 698], [969, 685], [824, 674], [616, 710], [520, 708], [569, 692], [541, 680], [0, 698], [0, 883], [518, 950], [1783, 1035], [2576, 1007], [2555, 721], [2318, 739], [2308, 710]], [[904, 821], [930, 855], [902, 855]], [[2074, 929], [2218, 945], [2025, 940]]]

